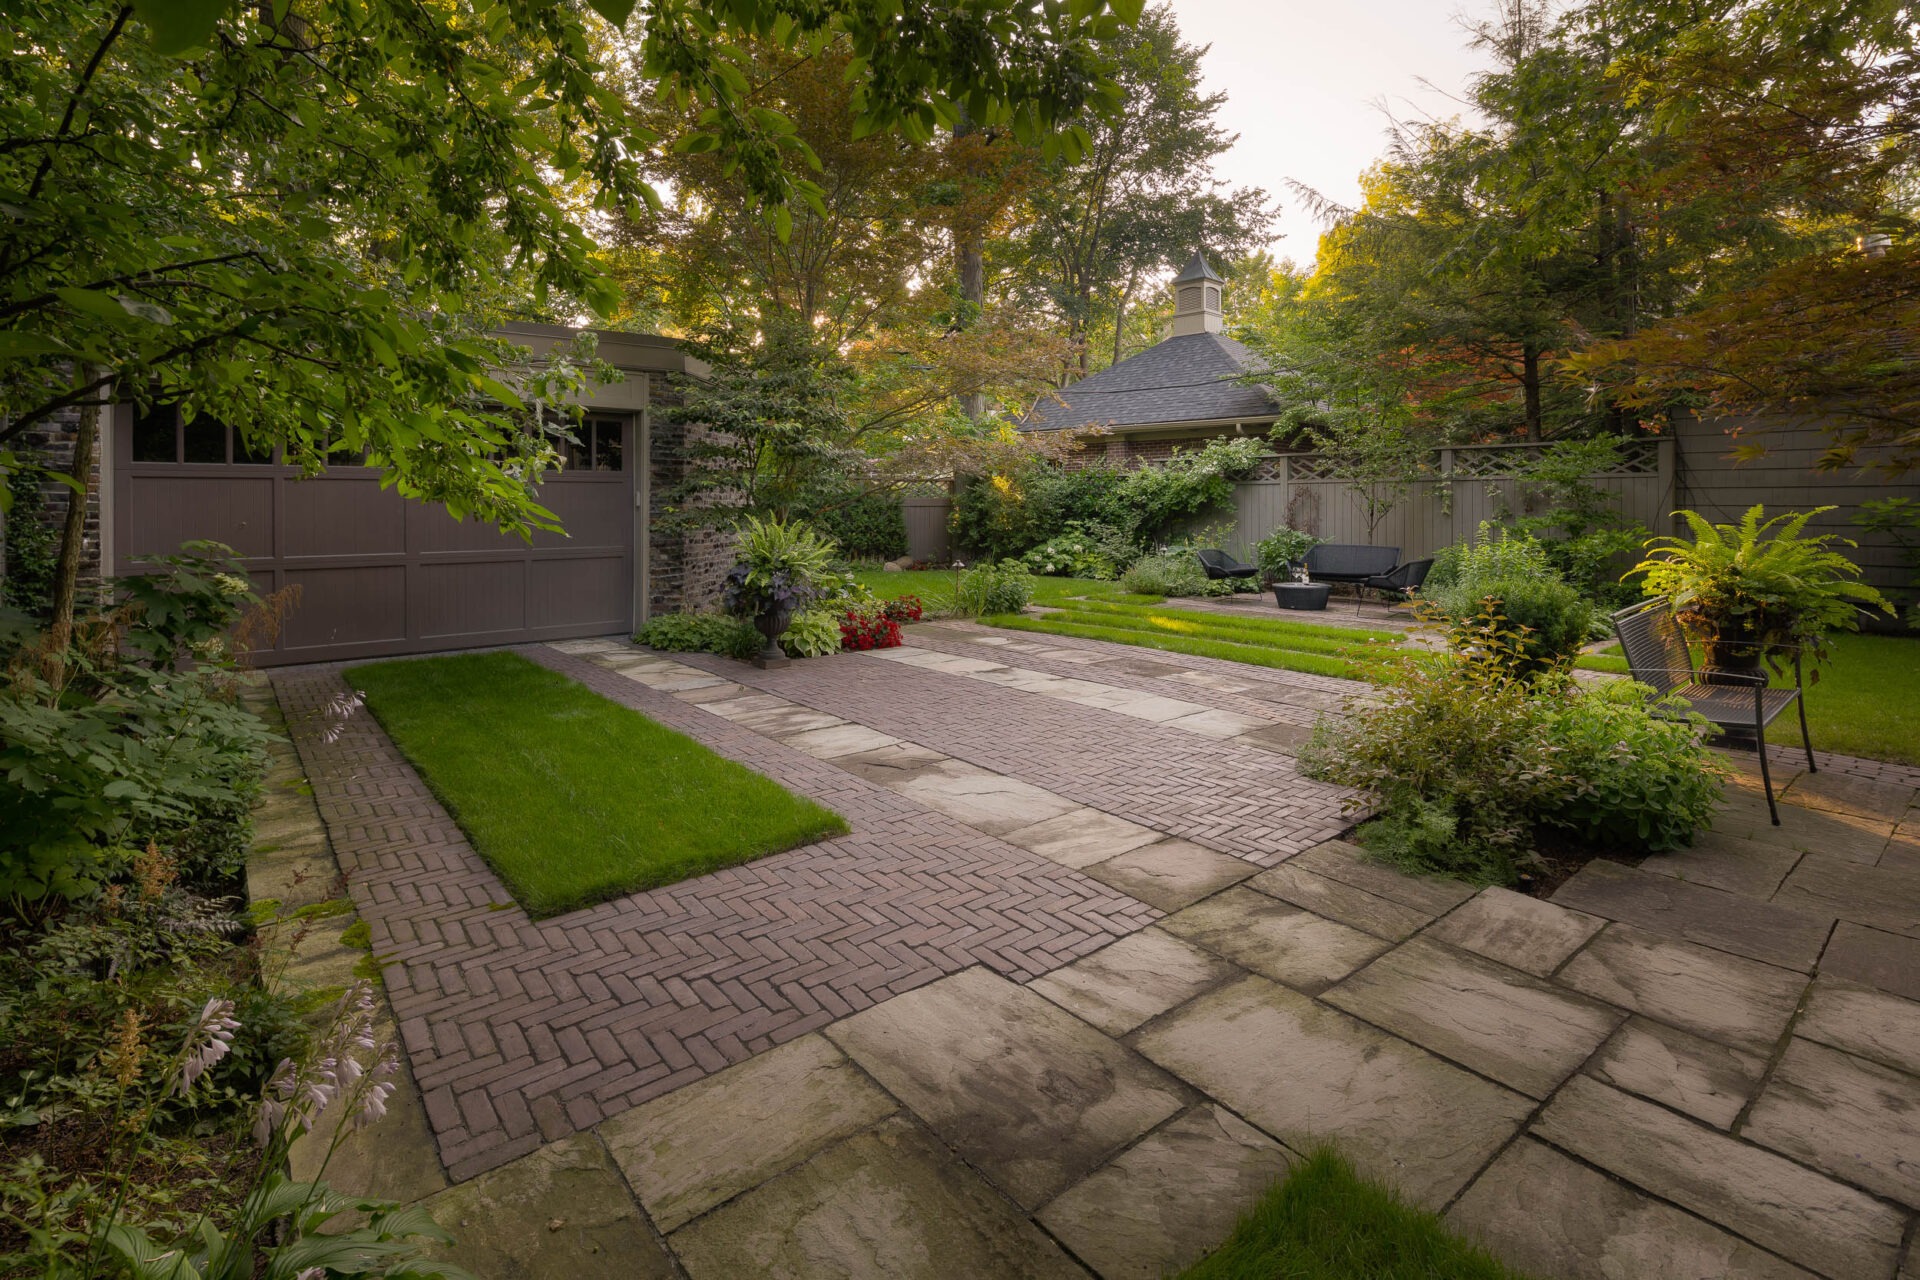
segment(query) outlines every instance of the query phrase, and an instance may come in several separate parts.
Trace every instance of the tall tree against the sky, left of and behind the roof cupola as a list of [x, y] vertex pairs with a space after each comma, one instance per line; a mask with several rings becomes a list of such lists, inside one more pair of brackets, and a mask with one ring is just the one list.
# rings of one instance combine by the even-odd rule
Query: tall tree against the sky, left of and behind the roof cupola
[[1081, 345], [1069, 376], [1085, 376], [1119, 344], [1092, 351], [1098, 326], [1125, 332], [1137, 294], [1204, 246], [1221, 261], [1265, 240], [1273, 213], [1258, 188], [1231, 190], [1213, 161], [1235, 138], [1217, 115], [1225, 94], [1202, 90], [1206, 48], [1181, 40], [1167, 4], [1108, 40], [1127, 109], [1085, 121], [1091, 146], [1037, 182], [1023, 225], [1004, 246], [1014, 286], [1060, 317]]

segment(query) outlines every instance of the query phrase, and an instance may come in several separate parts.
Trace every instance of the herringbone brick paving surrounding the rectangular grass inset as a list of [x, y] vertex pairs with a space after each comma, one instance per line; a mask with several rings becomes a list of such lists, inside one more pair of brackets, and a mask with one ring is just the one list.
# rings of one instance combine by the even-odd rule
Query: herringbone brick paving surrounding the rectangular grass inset
[[852, 833], [532, 921], [340, 666], [276, 672], [455, 1178], [945, 973], [983, 963], [1025, 981], [1160, 915], [595, 664], [522, 652], [820, 800]]

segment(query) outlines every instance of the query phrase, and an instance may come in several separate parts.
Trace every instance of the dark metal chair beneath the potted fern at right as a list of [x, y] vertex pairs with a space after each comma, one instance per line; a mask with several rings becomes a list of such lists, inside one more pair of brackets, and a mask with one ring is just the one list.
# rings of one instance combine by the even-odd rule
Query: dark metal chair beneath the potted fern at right
[[1674, 695], [1688, 710], [1716, 729], [1747, 729], [1753, 750], [1761, 756], [1761, 785], [1766, 789], [1766, 814], [1780, 825], [1780, 806], [1774, 804], [1774, 779], [1766, 770], [1766, 725], [1788, 706], [1801, 716], [1801, 747], [1807, 748], [1807, 771], [1818, 773], [1812, 762], [1812, 737], [1807, 735], [1807, 699], [1801, 697], [1799, 651], [1793, 651], [1793, 687], [1768, 689], [1766, 672], [1728, 672], [1722, 668], [1693, 668], [1693, 651], [1686, 631], [1663, 601], [1645, 601], [1613, 614], [1613, 633], [1620, 637], [1626, 668], [1653, 693]]

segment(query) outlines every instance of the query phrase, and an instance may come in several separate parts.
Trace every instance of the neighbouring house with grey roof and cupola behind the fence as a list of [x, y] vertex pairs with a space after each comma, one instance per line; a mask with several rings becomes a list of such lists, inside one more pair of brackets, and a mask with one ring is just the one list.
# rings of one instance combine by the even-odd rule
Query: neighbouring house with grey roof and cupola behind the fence
[[[1225, 286], [1198, 251], [1173, 278], [1173, 328], [1139, 355], [1081, 378], [1037, 403], [1023, 432], [1104, 428], [1085, 461], [1162, 461], [1177, 445], [1215, 436], [1265, 436], [1279, 416], [1273, 393], [1248, 374], [1265, 363], [1225, 334]], [[1102, 451], [1104, 445], [1104, 451]]]

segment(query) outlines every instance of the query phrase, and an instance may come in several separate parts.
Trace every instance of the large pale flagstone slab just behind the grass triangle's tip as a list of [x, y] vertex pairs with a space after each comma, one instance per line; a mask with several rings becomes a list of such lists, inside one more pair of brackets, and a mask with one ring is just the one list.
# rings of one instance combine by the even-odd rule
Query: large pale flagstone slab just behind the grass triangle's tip
[[1261, 977], [1181, 1006], [1135, 1042], [1288, 1146], [1331, 1140], [1428, 1209], [1465, 1186], [1534, 1105]]

